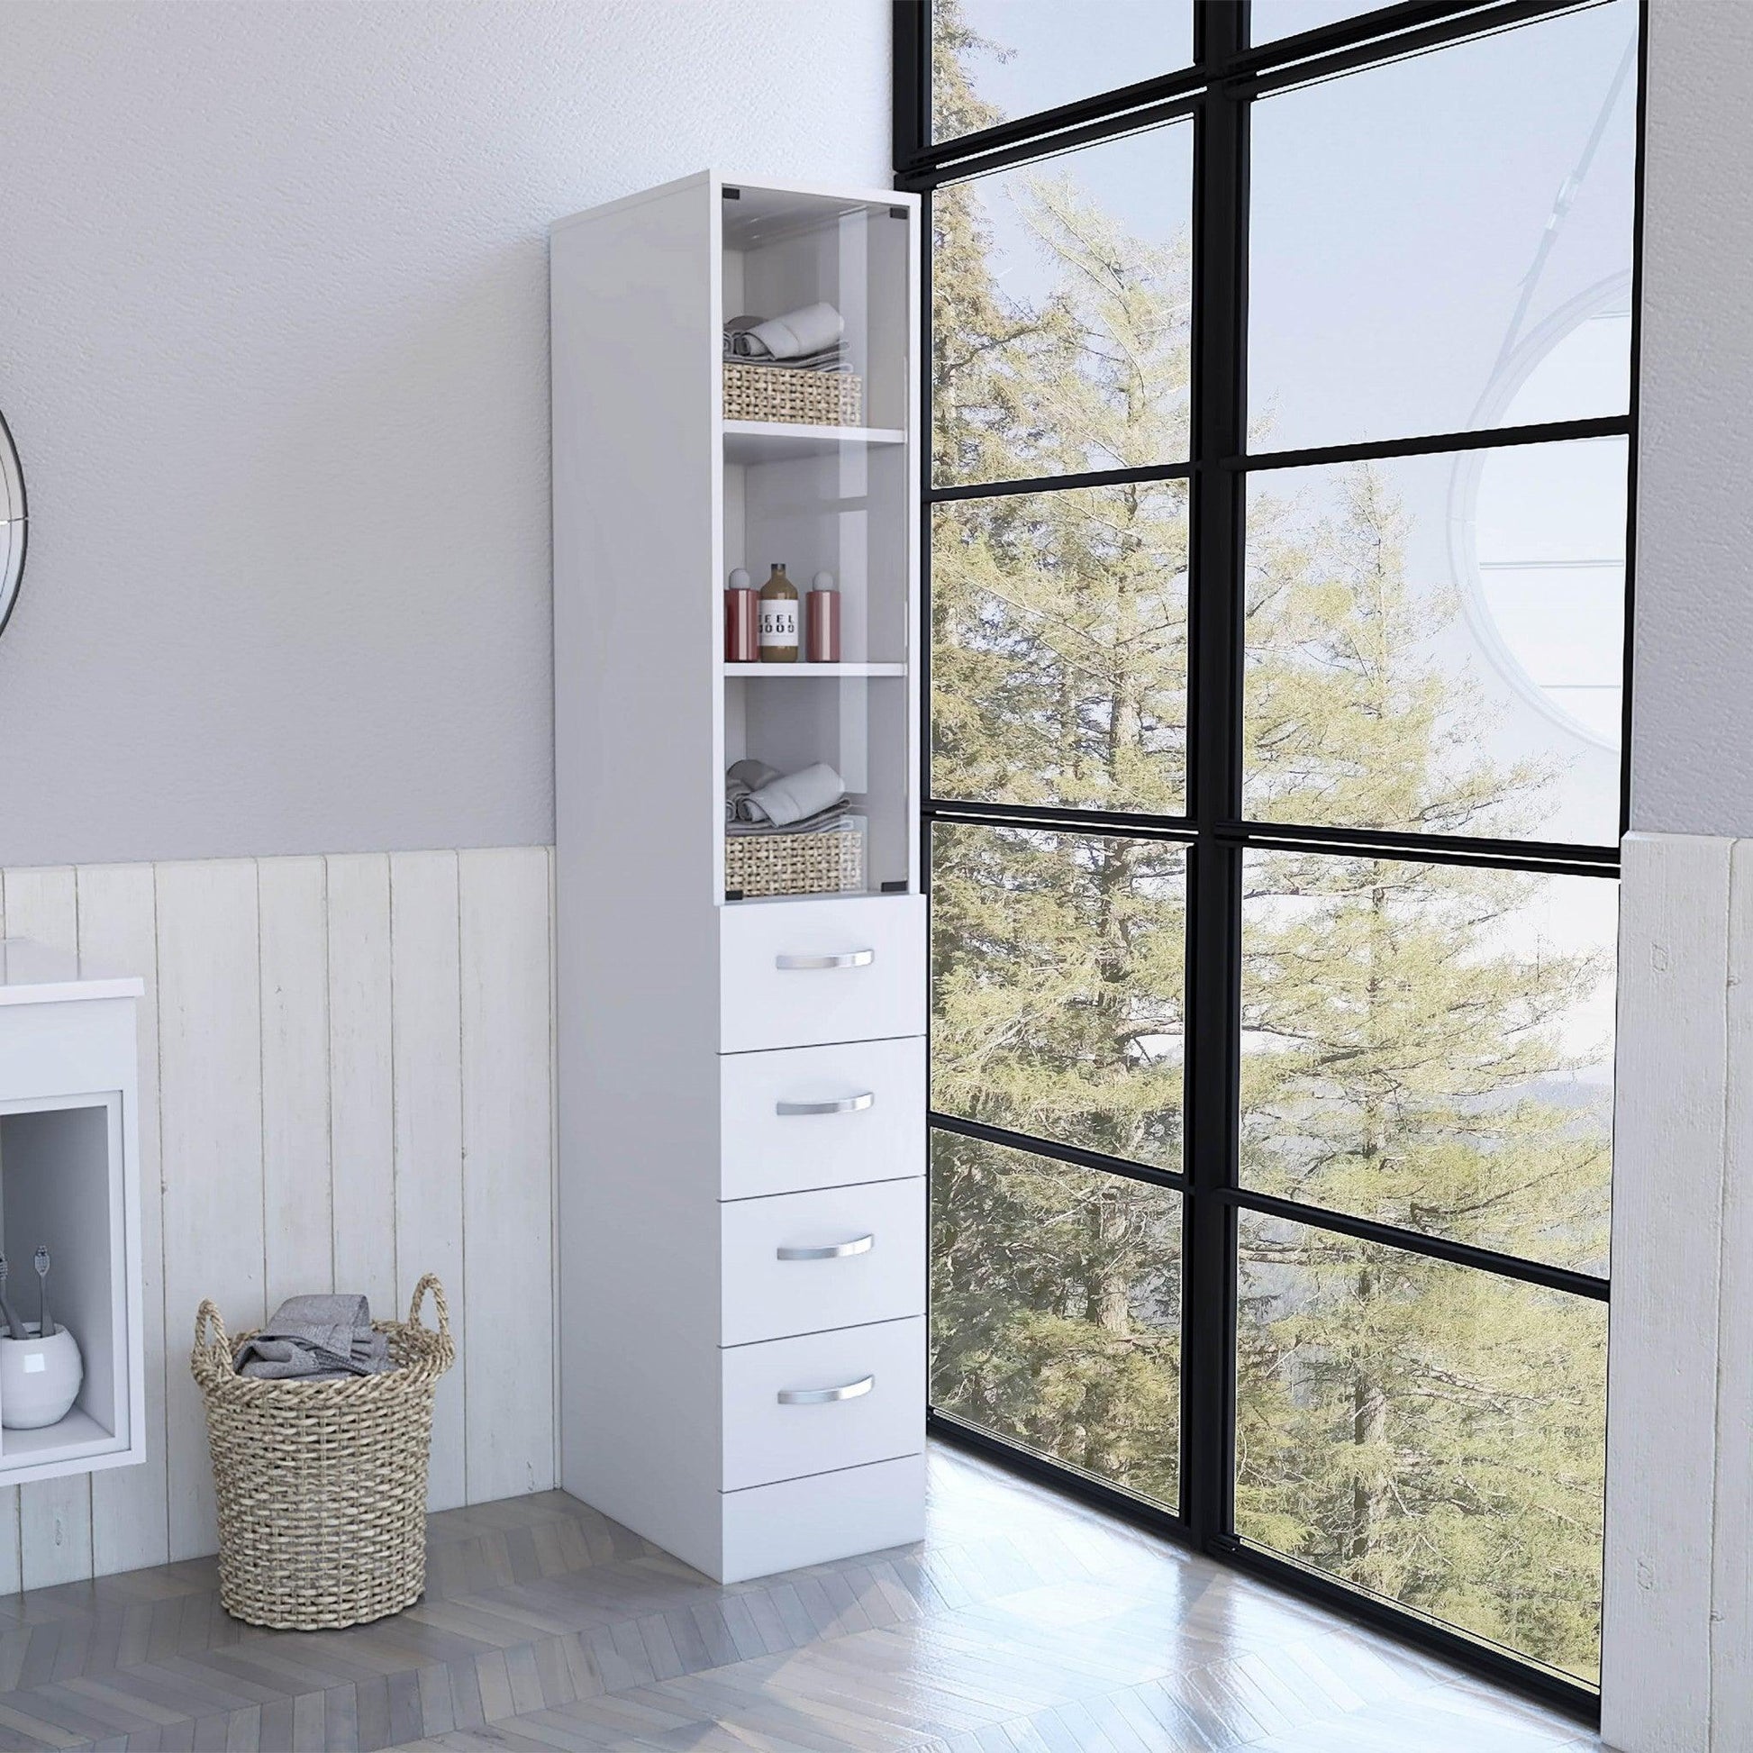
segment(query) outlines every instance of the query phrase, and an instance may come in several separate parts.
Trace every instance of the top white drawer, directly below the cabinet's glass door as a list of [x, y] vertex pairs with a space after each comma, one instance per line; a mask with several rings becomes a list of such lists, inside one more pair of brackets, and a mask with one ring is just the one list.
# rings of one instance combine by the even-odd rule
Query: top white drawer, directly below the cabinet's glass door
[[926, 898], [833, 896], [719, 908], [719, 1047], [926, 1033]]

